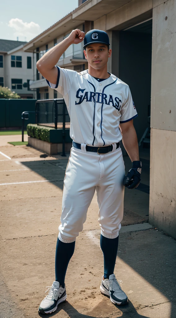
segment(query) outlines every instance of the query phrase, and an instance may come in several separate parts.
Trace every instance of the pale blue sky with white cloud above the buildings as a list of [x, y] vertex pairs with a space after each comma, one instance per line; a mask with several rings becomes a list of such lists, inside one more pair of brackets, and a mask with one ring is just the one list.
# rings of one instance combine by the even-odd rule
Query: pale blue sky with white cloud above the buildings
[[0, 39], [30, 41], [78, 7], [78, 0], [2, 1]]

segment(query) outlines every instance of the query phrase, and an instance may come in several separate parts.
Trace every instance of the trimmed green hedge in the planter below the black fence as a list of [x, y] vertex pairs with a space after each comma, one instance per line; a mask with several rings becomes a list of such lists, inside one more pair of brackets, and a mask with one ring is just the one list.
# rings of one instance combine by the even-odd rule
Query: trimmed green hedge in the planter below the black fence
[[55, 129], [51, 127], [45, 126], [37, 126], [37, 124], [28, 124], [27, 125], [27, 133], [28, 136], [37, 138], [43, 141], [50, 142], [50, 130]]

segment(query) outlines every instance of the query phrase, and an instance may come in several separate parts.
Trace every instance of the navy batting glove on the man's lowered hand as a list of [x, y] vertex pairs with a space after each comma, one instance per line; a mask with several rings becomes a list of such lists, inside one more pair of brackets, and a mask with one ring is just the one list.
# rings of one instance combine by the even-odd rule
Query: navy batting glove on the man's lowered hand
[[130, 169], [123, 179], [123, 185], [128, 189], [135, 189], [140, 184], [141, 161], [133, 161], [133, 167]]

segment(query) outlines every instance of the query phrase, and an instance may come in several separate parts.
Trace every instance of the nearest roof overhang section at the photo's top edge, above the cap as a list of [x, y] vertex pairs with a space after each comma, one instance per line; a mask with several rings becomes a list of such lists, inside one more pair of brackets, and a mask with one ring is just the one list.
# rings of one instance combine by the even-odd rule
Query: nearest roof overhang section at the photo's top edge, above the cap
[[131, 0], [87, 0], [73, 11], [72, 18], [75, 20], [95, 21], [130, 1]]

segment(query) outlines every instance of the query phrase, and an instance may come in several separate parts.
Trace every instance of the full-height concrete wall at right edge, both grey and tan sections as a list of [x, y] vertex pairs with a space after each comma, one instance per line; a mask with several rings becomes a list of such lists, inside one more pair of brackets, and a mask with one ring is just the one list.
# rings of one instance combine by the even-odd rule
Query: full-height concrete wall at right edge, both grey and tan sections
[[153, 0], [149, 222], [174, 238], [176, 238], [175, 15], [175, 0], [166, 2]]

